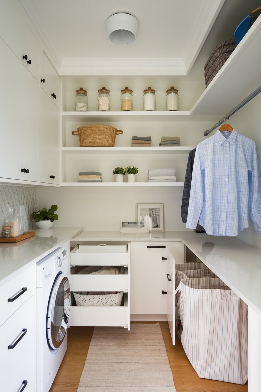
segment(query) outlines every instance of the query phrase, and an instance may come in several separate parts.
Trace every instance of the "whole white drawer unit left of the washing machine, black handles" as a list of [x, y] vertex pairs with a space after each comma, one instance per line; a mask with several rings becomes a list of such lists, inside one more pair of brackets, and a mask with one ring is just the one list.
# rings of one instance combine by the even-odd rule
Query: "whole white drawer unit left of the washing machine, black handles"
[[0, 288], [1, 390], [35, 392], [35, 265]]

